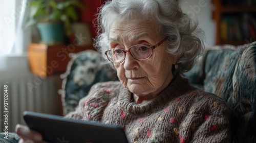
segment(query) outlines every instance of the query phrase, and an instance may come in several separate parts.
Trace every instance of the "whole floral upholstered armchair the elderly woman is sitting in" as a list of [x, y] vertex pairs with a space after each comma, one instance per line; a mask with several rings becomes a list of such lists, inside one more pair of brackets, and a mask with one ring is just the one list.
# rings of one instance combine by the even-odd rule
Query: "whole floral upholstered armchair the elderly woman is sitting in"
[[[184, 76], [227, 103], [232, 142], [256, 142], [256, 42], [210, 47]], [[118, 80], [116, 71], [95, 51], [74, 54], [61, 77], [64, 114], [75, 110], [93, 84]], [[2, 136], [0, 142], [7, 141]]]

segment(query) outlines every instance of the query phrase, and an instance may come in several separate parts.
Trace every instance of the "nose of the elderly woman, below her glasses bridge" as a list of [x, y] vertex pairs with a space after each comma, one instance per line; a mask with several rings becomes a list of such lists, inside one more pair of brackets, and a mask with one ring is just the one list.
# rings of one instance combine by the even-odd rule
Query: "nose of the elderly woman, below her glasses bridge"
[[125, 70], [132, 70], [132, 69], [138, 69], [139, 63], [137, 60], [132, 56], [130, 52], [127, 52], [124, 58], [124, 69]]

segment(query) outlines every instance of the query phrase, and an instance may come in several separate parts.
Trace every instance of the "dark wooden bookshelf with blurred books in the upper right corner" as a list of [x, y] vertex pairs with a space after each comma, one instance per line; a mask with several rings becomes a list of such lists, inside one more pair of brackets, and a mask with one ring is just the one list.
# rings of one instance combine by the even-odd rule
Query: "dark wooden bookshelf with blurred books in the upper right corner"
[[240, 45], [256, 40], [256, 0], [214, 0], [216, 44]]

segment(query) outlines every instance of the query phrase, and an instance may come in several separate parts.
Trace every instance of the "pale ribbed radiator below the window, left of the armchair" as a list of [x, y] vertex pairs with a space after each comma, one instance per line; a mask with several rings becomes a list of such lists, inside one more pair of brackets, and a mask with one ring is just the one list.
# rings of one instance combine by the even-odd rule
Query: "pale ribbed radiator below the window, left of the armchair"
[[[18, 74], [15, 75], [13, 71], [12, 76], [7, 73], [8, 78], [0, 73], [0, 132], [4, 132], [6, 122], [8, 132], [14, 132], [16, 124], [26, 125], [23, 119], [25, 110], [61, 114], [60, 95], [57, 93], [61, 84], [59, 76], [40, 78], [26, 70], [23, 74], [20, 72], [22, 71], [18, 70]], [[5, 85], [8, 88], [5, 88]], [[8, 97], [5, 97], [5, 89], [8, 90]], [[8, 103], [8, 110], [4, 107], [5, 100]], [[6, 114], [8, 117], [4, 116]]]

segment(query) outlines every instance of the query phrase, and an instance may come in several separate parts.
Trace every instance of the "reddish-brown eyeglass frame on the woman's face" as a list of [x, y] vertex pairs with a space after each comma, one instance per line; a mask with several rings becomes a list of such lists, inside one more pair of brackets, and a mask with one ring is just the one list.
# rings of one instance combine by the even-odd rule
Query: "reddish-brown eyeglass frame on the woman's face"
[[130, 53], [131, 53], [130, 49], [132, 49], [132, 47], [137, 46], [137, 45], [147, 45], [147, 46], [151, 47], [151, 54], [150, 54], [150, 56], [149, 56], [148, 58], [146, 58], [146, 59], [137, 59], [137, 58], [135, 58], [135, 57], [133, 56], [133, 54], [131, 53], [132, 57], [133, 57], [134, 59], [136, 59], [136, 60], [139, 60], [139, 61], [147, 60], [147, 59], [149, 59], [149, 58], [152, 57], [153, 50], [154, 50], [156, 47], [160, 46], [160, 45], [161, 45], [165, 40], [167, 40], [167, 39], [168, 39], [168, 37], [165, 37], [163, 40], [161, 40], [160, 42], [158, 42], [158, 43], [155, 44], [155, 45], [150, 45], [150, 44], [136, 44], [136, 45], [133, 45], [133, 46], [129, 47], [128, 50], [118, 49], [118, 50], [123, 51], [123, 53], [124, 53], [124, 58], [123, 58], [123, 60], [120, 61], [120, 62], [112, 62], [112, 61], [109, 59], [109, 56], [108, 56], [108, 52], [111, 51], [111, 50], [114, 50], [114, 49], [116, 49], [116, 48], [114, 48], [114, 49], [109, 49], [109, 50], [105, 51], [105, 55], [106, 55], [106, 58], [108, 58], [108, 60], [109, 60], [110, 62], [117, 64], [117, 63], [121, 63], [121, 62], [123, 62], [123, 61], [125, 60], [126, 53], [127, 53], [127, 52], [130, 52]]

